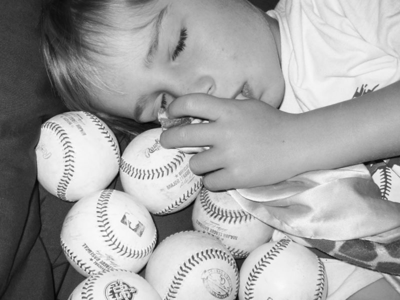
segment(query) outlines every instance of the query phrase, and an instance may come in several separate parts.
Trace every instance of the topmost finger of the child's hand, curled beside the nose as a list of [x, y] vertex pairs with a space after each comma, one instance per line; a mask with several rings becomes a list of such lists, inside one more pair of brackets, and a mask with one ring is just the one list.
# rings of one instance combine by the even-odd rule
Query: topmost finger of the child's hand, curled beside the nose
[[203, 93], [183, 95], [168, 105], [168, 117], [193, 116], [215, 121], [223, 112], [226, 101], [228, 99], [217, 98]]

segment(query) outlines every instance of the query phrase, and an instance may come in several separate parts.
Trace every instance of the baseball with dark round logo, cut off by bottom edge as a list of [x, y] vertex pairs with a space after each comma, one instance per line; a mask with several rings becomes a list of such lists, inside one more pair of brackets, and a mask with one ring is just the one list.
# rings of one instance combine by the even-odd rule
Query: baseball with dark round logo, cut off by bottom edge
[[77, 285], [68, 300], [161, 300], [140, 275], [115, 269], [91, 275]]

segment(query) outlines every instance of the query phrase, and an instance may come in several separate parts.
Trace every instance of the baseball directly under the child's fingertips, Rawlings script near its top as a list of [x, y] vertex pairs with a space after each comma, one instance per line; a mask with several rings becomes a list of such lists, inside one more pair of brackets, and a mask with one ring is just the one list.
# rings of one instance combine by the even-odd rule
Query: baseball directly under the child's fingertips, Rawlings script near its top
[[189, 168], [193, 154], [163, 148], [161, 132], [154, 128], [133, 138], [122, 153], [119, 171], [123, 190], [157, 215], [186, 207], [202, 187], [202, 177]]

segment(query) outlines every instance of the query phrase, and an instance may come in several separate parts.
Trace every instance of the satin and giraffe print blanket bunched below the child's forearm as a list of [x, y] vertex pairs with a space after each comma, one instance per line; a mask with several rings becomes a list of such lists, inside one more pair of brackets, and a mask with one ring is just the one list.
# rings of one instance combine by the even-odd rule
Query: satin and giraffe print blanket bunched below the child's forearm
[[[365, 169], [367, 173], [361, 176], [350, 171], [344, 176], [347, 182], [340, 182], [343, 174], [339, 174], [339, 180], [329, 177], [316, 185], [297, 182], [302, 188], [294, 190], [293, 184], [286, 182], [286, 186], [273, 189], [238, 189], [232, 196], [245, 210], [299, 243], [361, 267], [400, 275], [400, 157], [367, 164]], [[353, 175], [357, 179], [353, 180]], [[343, 188], [343, 192], [325, 188], [326, 182]], [[322, 192], [318, 187], [324, 187]], [[268, 190], [272, 199], [265, 201]], [[325, 199], [319, 206], [304, 204], [321, 196]], [[344, 200], [336, 201], [337, 197]]]

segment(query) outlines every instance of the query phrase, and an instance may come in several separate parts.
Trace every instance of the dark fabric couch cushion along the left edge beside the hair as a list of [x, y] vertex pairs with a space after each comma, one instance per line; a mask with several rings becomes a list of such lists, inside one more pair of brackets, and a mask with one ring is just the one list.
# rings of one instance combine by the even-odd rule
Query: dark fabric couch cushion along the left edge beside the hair
[[53, 299], [51, 265], [39, 236], [34, 147], [43, 119], [63, 111], [39, 54], [39, 0], [0, 9], [0, 297]]

